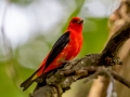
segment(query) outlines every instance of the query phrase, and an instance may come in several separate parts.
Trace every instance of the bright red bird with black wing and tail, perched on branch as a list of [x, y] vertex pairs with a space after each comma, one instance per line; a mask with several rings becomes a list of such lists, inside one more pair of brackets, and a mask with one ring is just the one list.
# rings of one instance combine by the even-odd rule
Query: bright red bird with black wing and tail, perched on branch
[[37, 78], [63, 65], [63, 63], [60, 63], [61, 60], [70, 60], [78, 55], [83, 41], [82, 24], [83, 19], [80, 17], [72, 18], [67, 30], [54, 43], [39, 69], [21, 84], [21, 87], [24, 87], [23, 91], [27, 89]]

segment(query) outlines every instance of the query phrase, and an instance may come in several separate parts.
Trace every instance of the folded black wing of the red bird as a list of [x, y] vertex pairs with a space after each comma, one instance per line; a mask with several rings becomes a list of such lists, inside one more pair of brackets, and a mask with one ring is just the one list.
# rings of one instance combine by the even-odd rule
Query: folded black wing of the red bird
[[54, 58], [62, 52], [62, 50], [66, 46], [69, 42], [69, 31], [65, 32], [60, 37], [60, 39], [54, 43], [52, 50], [48, 56], [44, 70], [54, 60]]

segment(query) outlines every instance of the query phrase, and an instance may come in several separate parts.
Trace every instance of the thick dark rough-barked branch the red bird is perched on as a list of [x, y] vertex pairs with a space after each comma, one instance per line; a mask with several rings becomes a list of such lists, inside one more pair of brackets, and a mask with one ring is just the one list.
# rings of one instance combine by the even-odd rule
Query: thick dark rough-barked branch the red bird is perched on
[[[61, 97], [65, 91], [70, 88], [73, 82], [94, 74], [99, 70], [99, 67], [120, 65], [121, 61], [118, 58], [117, 53], [120, 46], [129, 38], [130, 23], [128, 22], [115, 32], [101, 54], [89, 54], [80, 59], [69, 61], [55, 72], [50, 72], [47, 75], [46, 83], [43, 82], [43, 84], [41, 84], [37, 82], [37, 88], [30, 97], [41, 97], [41, 95], [42, 97]], [[101, 72], [103, 71], [101, 70]], [[98, 74], [105, 75], [106, 72]], [[125, 80], [114, 71], [112, 71], [110, 74], [115, 80], [130, 88], [129, 81]], [[40, 79], [42, 79], [42, 77]]]

